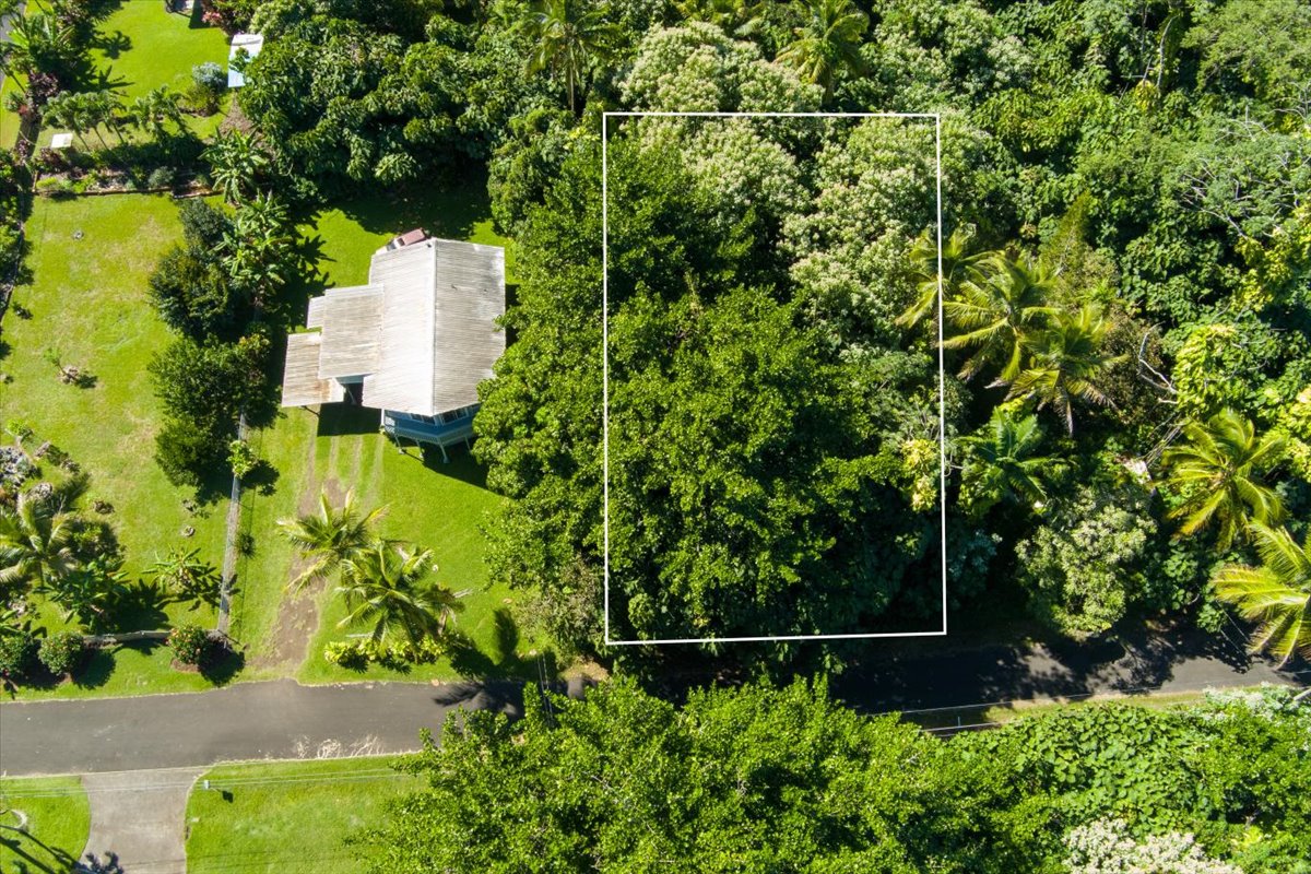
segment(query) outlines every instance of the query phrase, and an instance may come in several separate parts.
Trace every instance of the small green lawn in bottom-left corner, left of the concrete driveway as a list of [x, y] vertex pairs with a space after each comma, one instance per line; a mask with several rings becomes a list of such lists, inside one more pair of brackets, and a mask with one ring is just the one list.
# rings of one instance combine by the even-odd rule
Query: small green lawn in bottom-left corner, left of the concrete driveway
[[0, 780], [0, 871], [67, 871], [81, 857], [90, 806], [77, 777]]

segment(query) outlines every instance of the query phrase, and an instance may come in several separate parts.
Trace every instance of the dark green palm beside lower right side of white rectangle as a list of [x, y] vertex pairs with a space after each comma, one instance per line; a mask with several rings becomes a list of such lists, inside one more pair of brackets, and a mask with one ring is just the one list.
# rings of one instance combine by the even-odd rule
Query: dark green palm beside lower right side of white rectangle
[[1016, 418], [1000, 406], [992, 410], [982, 434], [961, 438], [960, 443], [966, 451], [961, 498], [975, 519], [1007, 499], [1040, 504], [1047, 497], [1044, 480], [1062, 466], [1058, 459], [1034, 455], [1042, 443], [1038, 417]]

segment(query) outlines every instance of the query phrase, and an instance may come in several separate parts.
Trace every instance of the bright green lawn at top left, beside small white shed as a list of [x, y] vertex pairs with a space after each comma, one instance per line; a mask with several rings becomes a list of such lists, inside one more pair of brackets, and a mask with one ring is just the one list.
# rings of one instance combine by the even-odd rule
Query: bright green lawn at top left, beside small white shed
[[160, 85], [186, 90], [191, 68], [206, 62], [227, 69], [228, 38], [205, 26], [199, 13], [168, 13], [160, 0], [123, 0], [100, 24], [92, 59], [132, 100]]

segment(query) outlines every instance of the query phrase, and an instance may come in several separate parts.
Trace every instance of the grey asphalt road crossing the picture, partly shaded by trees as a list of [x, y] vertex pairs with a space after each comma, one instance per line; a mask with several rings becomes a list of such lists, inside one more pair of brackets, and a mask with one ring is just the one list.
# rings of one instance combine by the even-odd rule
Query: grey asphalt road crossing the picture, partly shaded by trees
[[[832, 683], [867, 712], [948, 708], [1091, 693], [1196, 691], [1262, 681], [1303, 684], [1240, 641], [1179, 632], [1092, 646], [947, 650], [881, 641]], [[459, 705], [517, 713], [517, 683], [239, 683], [214, 692], [0, 704], [0, 772], [93, 773], [201, 767], [233, 759], [401, 752]]]

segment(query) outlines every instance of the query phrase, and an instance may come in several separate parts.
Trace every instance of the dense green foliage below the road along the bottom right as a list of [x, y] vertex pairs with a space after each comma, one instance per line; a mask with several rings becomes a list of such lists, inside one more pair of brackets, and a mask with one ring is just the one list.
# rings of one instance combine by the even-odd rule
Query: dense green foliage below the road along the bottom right
[[1068, 870], [1065, 835], [1118, 819], [1219, 858], [1299, 871], [1308, 717], [1285, 691], [1156, 712], [1066, 709], [933, 738], [829, 701], [822, 684], [694, 692], [627, 681], [526, 694], [510, 723], [451, 717], [408, 769], [430, 788], [362, 836], [372, 870]]

